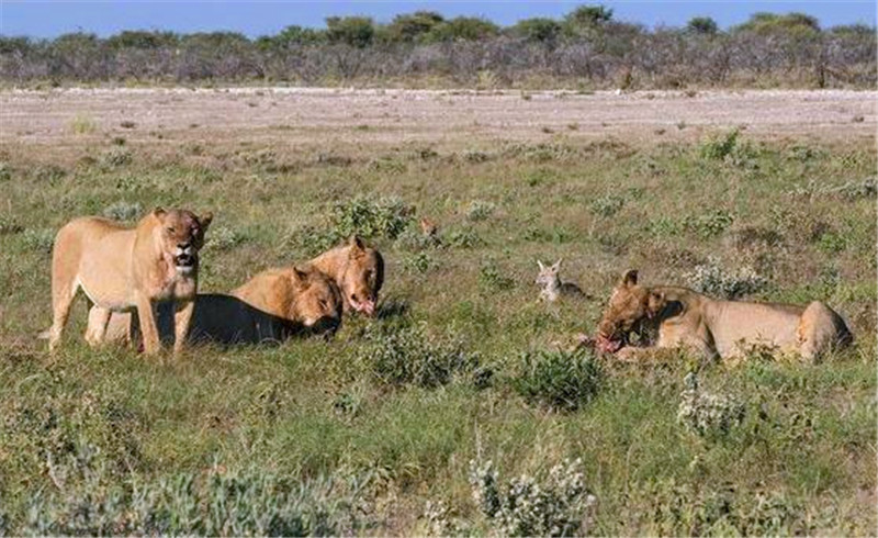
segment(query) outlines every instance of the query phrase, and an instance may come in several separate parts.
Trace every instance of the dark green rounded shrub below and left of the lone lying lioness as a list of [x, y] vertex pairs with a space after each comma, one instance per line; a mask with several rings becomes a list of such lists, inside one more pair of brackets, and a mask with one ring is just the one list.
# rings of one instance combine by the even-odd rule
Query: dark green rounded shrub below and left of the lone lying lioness
[[531, 351], [521, 356], [511, 386], [528, 403], [572, 412], [590, 402], [604, 383], [604, 370], [587, 350]]

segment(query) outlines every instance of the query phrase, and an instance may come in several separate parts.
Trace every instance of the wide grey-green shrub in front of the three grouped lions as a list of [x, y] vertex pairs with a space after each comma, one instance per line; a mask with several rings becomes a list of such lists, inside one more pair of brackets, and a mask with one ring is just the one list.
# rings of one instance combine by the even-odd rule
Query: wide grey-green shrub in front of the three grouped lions
[[431, 337], [423, 326], [372, 333], [358, 358], [380, 382], [396, 386], [443, 385], [458, 376], [476, 373], [480, 365], [479, 356], [460, 340]]

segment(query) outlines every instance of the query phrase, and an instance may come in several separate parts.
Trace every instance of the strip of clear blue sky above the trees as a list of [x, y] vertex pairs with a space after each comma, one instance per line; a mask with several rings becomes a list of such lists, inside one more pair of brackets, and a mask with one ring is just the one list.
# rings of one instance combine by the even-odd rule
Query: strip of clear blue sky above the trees
[[0, 0], [0, 34], [54, 37], [86, 31], [100, 36], [121, 30], [205, 32], [228, 30], [249, 36], [277, 33], [290, 24], [323, 26], [329, 15], [369, 15], [387, 22], [396, 13], [432, 10], [446, 16], [485, 16], [507, 25], [529, 16], [560, 18], [581, 3], [604, 3], [618, 20], [649, 27], [679, 26], [696, 15], [712, 16], [722, 27], [745, 21], [756, 11], [803, 11], [824, 27], [876, 23], [873, 1], [41, 1]]

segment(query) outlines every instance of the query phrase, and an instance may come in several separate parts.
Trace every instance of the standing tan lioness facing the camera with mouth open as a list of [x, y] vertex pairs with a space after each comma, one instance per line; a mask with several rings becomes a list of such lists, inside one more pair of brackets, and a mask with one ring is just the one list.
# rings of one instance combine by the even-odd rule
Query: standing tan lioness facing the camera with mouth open
[[198, 291], [198, 253], [213, 215], [157, 208], [134, 228], [99, 217], [67, 223], [52, 253], [49, 349], [57, 348], [80, 288], [90, 303], [89, 343], [100, 343], [112, 312], [137, 309], [144, 350], [160, 348], [156, 303], [175, 302], [175, 352], [180, 351]]

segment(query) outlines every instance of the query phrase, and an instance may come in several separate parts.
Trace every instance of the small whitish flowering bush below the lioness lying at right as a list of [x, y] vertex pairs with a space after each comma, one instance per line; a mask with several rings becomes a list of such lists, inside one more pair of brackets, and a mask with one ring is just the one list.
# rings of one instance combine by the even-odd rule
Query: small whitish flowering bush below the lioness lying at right
[[699, 390], [694, 372], [686, 374], [684, 382], [677, 421], [689, 431], [702, 437], [721, 436], [744, 421], [745, 406], [736, 397]]

